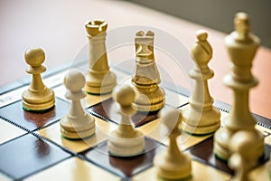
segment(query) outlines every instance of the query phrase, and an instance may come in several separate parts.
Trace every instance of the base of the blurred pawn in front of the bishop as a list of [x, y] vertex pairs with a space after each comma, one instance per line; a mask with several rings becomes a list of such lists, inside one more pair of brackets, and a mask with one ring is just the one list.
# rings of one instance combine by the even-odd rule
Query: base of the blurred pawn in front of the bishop
[[168, 161], [166, 152], [154, 157], [158, 180], [189, 180], [192, 178], [191, 158], [184, 156], [184, 161], [180, 163]]

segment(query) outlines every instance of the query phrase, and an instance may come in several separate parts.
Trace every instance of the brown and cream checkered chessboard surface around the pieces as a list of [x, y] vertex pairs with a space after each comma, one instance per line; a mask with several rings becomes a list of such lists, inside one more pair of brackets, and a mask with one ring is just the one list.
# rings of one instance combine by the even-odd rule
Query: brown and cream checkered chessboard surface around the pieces
[[[86, 63], [73, 68], [84, 70]], [[153, 158], [167, 147], [163, 125], [157, 115], [136, 113], [136, 129], [145, 134], [145, 152], [137, 157], [113, 157], [107, 154], [107, 133], [117, 127], [119, 115], [116, 102], [110, 94], [88, 95], [86, 110], [96, 117], [96, 134], [84, 140], [61, 137], [60, 119], [68, 111], [70, 102], [65, 99], [62, 84], [69, 67], [51, 71], [43, 78], [46, 86], [55, 91], [56, 105], [43, 113], [22, 109], [21, 94], [28, 82], [9, 85], [0, 95], [0, 180], [156, 180]], [[131, 73], [115, 69], [117, 82], [129, 80]], [[189, 91], [171, 90], [163, 84], [166, 97], [165, 110], [182, 110], [188, 103]], [[229, 114], [229, 105], [219, 100], [215, 106], [221, 119]], [[251, 172], [253, 180], [269, 180], [271, 151], [270, 119], [254, 115], [256, 128], [265, 135], [265, 156]], [[214, 157], [212, 136], [195, 137], [182, 133], [180, 148], [192, 157], [192, 180], [229, 180], [233, 172], [226, 163]]]

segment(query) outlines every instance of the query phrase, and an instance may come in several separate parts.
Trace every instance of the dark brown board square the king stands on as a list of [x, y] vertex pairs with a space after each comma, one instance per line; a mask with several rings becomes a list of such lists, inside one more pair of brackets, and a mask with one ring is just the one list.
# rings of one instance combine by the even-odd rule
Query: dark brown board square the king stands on
[[[188, 153], [190, 153], [196, 161], [199, 161], [203, 164], [209, 165], [211, 167], [219, 168], [220, 170], [233, 174], [233, 170], [229, 168], [228, 164], [225, 161], [220, 160], [215, 156], [213, 152], [213, 137], [210, 137], [201, 143], [189, 148]], [[260, 158], [257, 167], [266, 163], [269, 159], [271, 152], [271, 147], [265, 145], [265, 156]]]

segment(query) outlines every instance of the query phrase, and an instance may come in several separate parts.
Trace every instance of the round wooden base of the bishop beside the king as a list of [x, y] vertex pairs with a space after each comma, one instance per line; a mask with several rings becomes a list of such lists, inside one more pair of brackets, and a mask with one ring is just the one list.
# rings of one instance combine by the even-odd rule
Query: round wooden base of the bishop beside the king
[[182, 110], [182, 130], [192, 135], [208, 135], [220, 129], [220, 110], [198, 112], [190, 107]]

